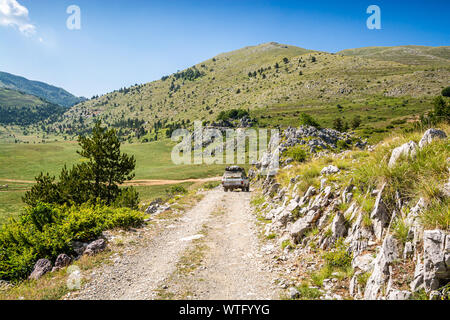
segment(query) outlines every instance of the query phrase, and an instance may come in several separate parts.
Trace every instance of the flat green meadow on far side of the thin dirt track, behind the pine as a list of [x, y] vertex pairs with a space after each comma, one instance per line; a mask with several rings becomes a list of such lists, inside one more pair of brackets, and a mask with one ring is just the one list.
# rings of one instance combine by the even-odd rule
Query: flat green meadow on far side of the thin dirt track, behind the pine
[[[136, 158], [135, 179], [184, 180], [213, 177], [224, 165], [175, 165], [174, 143], [162, 140], [146, 144], [124, 144], [122, 151]], [[76, 142], [46, 144], [0, 144], [0, 179], [34, 180], [41, 171], [57, 175], [67, 164], [82, 161]], [[1, 180], [0, 180], [1, 181]]]

